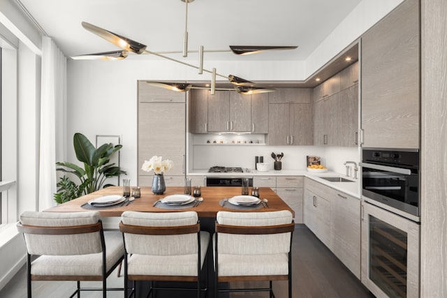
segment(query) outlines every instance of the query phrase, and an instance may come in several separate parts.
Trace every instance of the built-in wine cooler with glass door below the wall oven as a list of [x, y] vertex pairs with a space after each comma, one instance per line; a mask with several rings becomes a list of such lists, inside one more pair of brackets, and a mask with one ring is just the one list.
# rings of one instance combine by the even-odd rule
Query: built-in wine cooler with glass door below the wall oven
[[362, 202], [362, 283], [376, 297], [419, 297], [420, 225]]

